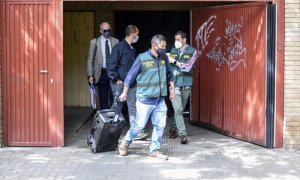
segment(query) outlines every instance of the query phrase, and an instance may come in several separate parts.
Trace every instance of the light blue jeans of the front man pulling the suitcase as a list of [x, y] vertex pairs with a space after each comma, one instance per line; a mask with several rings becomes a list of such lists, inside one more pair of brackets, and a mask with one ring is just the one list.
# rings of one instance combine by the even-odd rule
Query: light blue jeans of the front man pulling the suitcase
[[161, 100], [154, 105], [148, 105], [136, 101], [136, 123], [130, 126], [124, 140], [127, 144], [131, 144], [133, 138], [135, 138], [146, 126], [149, 117], [151, 117], [153, 132], [150, 145], [150, 153], [158, 151], [162, 141], [162, 136], [166, 126], [167, 118], [167, 106], [165, 99]]

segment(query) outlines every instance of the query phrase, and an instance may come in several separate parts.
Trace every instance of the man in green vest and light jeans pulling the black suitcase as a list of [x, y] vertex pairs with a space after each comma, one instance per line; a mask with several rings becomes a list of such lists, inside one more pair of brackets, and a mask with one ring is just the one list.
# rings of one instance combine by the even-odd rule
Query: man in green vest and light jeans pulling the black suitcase
[[120, 101], [125, 101], [129, 87], [136, 80], [137, 101], [136, 101], [136, 123], [130, 125], [124, 140], [119, 146], [119, 153], [122, 156], [128, 154], [129, 145], [133, 138], [141, 132], [151, 117], [153, 132], [149, 156], [167, 160], [168, 156], [162, 154], [160, 145], [164, 128], [166, 126], [168, 83], [170, 82], [170, 100], [175, 95], [174, 76], [169, 64], [166, 52], [166, 38], [162, 35], [155, 35], [151, 40], [151, 49], [140, 54], [135, 60], [124, 81], [124, 90]]

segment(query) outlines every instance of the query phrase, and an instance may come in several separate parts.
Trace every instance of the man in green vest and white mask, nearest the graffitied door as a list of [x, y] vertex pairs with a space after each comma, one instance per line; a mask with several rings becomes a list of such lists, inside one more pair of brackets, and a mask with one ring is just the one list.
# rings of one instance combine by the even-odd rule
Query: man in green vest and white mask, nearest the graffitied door
[[183, 110], [191, 94], [194, 64], [198, 58], [197, 50], [187, 44], [186, 37], [186, 33], [182, 31], [175, 34], [175, 48], [171, 50], [169, 57], [175, 79], [175, 100], [172, 101], [174, 119], [169, 137], [176, 138], [178, 133], [181, 144], [188, 143]]

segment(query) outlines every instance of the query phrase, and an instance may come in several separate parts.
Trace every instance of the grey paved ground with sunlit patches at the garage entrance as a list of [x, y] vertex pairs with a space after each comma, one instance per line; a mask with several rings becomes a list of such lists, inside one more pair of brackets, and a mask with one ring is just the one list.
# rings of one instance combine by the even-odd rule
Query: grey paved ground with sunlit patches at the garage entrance
[[300, 179], [300, 151], [270, 150], [189, 125], [188, 145], [165, 136], [168, 161], [147, 157], [149, 140], [136, 141], [127, 157], [92, 154], [85, 140], [90, 125], [73, 127], [64, 148], [1, 148], [0, 179]]

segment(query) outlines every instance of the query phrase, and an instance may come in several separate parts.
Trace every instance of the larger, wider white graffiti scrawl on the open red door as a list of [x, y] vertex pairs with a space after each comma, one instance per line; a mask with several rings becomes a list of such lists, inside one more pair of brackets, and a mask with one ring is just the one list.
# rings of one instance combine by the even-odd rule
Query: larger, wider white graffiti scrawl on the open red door
[[228, 19], [226, 20], [224, 38], [217, 37], [213, 49], [206, 54], [207, 58], [217, 64], [216, 70], [219, 70], [224, 63], [227, 64], [231, 71], [240, 63], [243, 63], [244, 67], [246, 67], [246, 48], [243, 46], [242, 26], [242, 17], [240, 23], [237, 24], [233, 24]]

